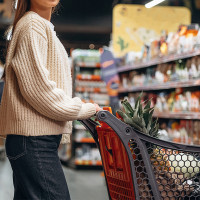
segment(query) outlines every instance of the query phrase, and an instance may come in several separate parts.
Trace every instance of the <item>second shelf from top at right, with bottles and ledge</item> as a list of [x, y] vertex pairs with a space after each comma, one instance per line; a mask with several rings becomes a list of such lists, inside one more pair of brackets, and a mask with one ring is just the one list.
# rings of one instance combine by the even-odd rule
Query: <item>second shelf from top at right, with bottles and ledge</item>
[[200, 56], [120, 74], [120, 93], [200, 85]]

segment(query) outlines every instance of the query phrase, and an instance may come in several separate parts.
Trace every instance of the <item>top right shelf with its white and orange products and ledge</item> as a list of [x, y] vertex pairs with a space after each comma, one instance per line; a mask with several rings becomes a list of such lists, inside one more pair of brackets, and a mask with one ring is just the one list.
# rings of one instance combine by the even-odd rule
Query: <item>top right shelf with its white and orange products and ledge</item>
[[144, 44], [140, 52], [129, 52], [121, 58], [118, 72], [128, 72], [200, 55], [198, 24], [180, 25], [176, 32], [162, 31], [160, 39]]

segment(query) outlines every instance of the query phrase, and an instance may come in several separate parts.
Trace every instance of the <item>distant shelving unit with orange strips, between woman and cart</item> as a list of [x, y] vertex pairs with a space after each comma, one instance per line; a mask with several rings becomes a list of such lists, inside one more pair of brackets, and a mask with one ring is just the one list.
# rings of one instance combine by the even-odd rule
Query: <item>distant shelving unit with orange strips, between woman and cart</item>
[[[101, 80], [100, 54], [98, 51], [75, 50], [73, 57], [73, 95], [85, 103], [109, 105], [106, 84]], [[78, 56], [77, 56], [78, 54]], [[80, 122], [75, 121], [72, 134], [72, 158], [70, 166], [86, 168], [102, 166], [94, 139]]]

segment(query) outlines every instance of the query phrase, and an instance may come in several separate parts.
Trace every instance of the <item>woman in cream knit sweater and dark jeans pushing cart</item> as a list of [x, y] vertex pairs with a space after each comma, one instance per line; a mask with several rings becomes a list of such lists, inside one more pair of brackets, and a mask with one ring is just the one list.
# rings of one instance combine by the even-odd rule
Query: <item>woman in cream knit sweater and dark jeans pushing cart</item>
[[8, 46], [0, 135], [13, 169], [14, 200], [69, 200], [57, 149], [72, 120], [101, 108], [72, 98], [68, 56], [53, 30], [59, 0], [19, 0]]

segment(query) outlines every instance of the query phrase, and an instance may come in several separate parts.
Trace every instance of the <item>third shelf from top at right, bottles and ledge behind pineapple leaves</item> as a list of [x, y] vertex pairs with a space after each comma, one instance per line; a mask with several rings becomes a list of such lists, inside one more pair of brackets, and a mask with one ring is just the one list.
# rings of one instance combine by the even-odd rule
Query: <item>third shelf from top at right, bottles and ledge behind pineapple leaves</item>
[[[129, 93], [125, 98], [134, 106], [137, 96], [138, 93]], [[151, 106], [154, 106], [154, 117], [200, 120], [200, 92], [198, 90], [179, 88], [160, 93], [146, 92], [143, 96], [143, 101], [151, 99]], [[121, 97], [121, 100], [123, 98]]]

